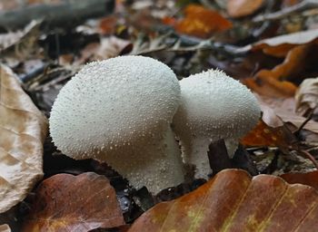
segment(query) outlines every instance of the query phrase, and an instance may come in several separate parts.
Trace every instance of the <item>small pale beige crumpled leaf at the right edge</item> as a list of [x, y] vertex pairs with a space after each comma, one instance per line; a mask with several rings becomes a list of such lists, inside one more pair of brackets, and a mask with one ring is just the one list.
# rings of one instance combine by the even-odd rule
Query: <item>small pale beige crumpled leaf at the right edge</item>
[[313, 110], [318, 104], [318, 78], [305, 79], [295, 93], [296, 111]]

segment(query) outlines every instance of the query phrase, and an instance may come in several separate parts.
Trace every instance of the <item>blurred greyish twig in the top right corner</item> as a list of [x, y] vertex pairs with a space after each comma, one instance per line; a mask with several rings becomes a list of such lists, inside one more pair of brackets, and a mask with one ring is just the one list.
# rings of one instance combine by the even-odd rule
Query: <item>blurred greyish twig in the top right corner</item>
[[258, 15], [253, 18], [253, 23], [260, 23], [263, 21], [274, 21], [282, 19], [283, 17], [286, 17], [290, 14], [294, 14], [296, 12], [301, 12], [304, 10], [312, 9], [318, 7], [317, 0], [304, 0], [300, 4], [293, 5], [290, 7], [287, 7], [281, 11], [274, 12], [272, 14], [264, 14], [264, 15]]

